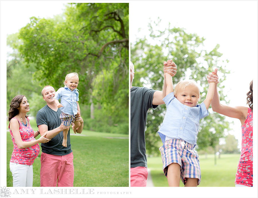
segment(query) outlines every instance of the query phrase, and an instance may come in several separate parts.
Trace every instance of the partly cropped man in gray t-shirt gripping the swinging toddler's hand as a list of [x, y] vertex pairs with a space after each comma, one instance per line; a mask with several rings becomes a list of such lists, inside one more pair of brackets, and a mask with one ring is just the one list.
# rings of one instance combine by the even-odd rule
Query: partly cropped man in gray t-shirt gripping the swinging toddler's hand
[[[164, 61], [164, 69], [171, 76], [176, 73], [175, 63], [167, 64]], [[173, 72], [172, 72], [173, 71]], [[148, 171], [145, 148], [145, 125], [149, 108], [157, 108], [163, 102], [163, 92], [146, 87], [133, 87], [134, 65], [130, 62], [130, 82], [131, 82], [131, 187], [145, 187]], [[164, 85], [165, 86], [165, 85]], [[166, 88], [163, 90], [166, 90]]]

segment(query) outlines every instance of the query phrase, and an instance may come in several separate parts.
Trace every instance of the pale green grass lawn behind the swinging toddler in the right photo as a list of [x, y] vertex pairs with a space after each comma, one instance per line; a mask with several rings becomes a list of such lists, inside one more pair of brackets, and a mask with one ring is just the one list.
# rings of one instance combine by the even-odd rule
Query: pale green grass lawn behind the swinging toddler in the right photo
[[[198, 187], [234, 187], [236, 168], [240, 154], [222, 154], [217, 156], [217, 164], [214, 165], [214, 155], [200, 155], [201, 183]], [[162, 170], [161, 157], [148, 157], [148, 168], [155, 187], [168, 187], [167, 178]], [[183, 187], [180, 181], [180, 187]]]

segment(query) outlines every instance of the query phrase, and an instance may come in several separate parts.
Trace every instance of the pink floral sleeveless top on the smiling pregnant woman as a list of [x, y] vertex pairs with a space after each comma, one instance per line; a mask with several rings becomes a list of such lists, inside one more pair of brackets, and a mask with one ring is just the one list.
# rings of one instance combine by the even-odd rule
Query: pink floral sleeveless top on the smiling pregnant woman
[[[18, 120], [17, 118], [12, 118], [12, 119]], [[22, 125], [22, 123], [18, 120], [19, 131], [20, 131], [20, 134], [21, 134], [21, 140], [22, 141], [35, 140], [34, 131], [30, 126], [29, 119], [28, 118], [26, 118], [26, 119], [28, 120], [27, 127]], [[13, 163], [16, 163], [16, 164], [32, 165], [33, 162], [34, 162], [34, 159], [36, 157], [38, 157], [38, 154], [39, 154], [39, 151], [40, 151], [39, 145], [35, 144], [35, 145], [33, 145], [31, 147], [28, 147], [28, 148], [19, 149], [15, 140], [14, 140], [13, 132], [10, 129], [10, 124], [9, 124], [9, 130], [10, 130], [11, 138], [12, 138], [12, 141], [13, 141], [13, 153], [12, 153], [10, 162], [13, 162]]]

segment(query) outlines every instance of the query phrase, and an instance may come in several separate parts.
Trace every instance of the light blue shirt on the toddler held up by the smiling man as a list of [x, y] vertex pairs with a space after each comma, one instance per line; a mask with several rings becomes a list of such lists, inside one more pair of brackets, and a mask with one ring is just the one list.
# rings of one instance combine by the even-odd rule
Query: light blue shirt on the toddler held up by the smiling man
[[69, 115], [77, 114], [78, 109], [76, 101], [79, 101], [78, 89], [71, 91], [67, 86], [61, 87], [56, 91], [54, 98], [57, 100], [61, 98], [60, 103], [63, 105], [63, 107], [61, 107], [62, 112]]

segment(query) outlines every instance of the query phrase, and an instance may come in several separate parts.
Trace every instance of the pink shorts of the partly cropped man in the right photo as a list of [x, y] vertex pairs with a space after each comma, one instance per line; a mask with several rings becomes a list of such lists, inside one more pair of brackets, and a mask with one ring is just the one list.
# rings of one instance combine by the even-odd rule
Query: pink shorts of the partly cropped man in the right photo
[[148, 170], [146, 167], [137, 166], [130, 168], [131, 172], [131, 187], [146, 187]]

